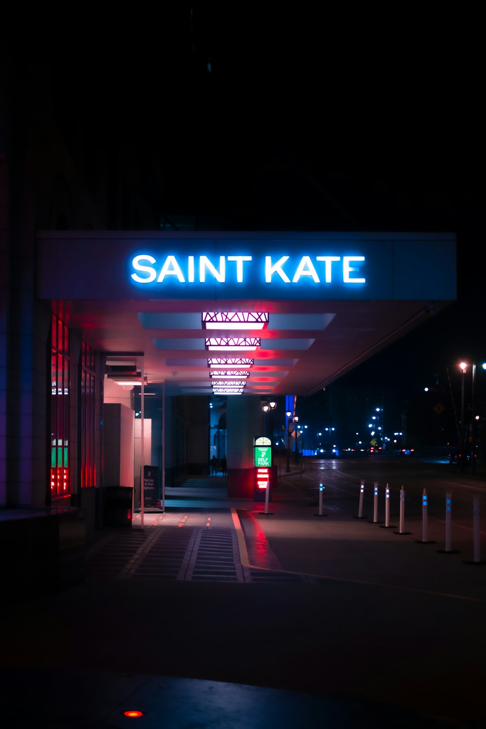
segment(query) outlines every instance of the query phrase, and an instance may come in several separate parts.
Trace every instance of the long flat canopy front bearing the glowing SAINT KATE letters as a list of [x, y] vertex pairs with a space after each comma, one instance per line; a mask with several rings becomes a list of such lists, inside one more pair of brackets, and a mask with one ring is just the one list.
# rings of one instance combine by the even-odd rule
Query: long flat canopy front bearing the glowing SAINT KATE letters
[[453, 233], [46, 231], [37, 262], [40, 299], [456, 297]]

